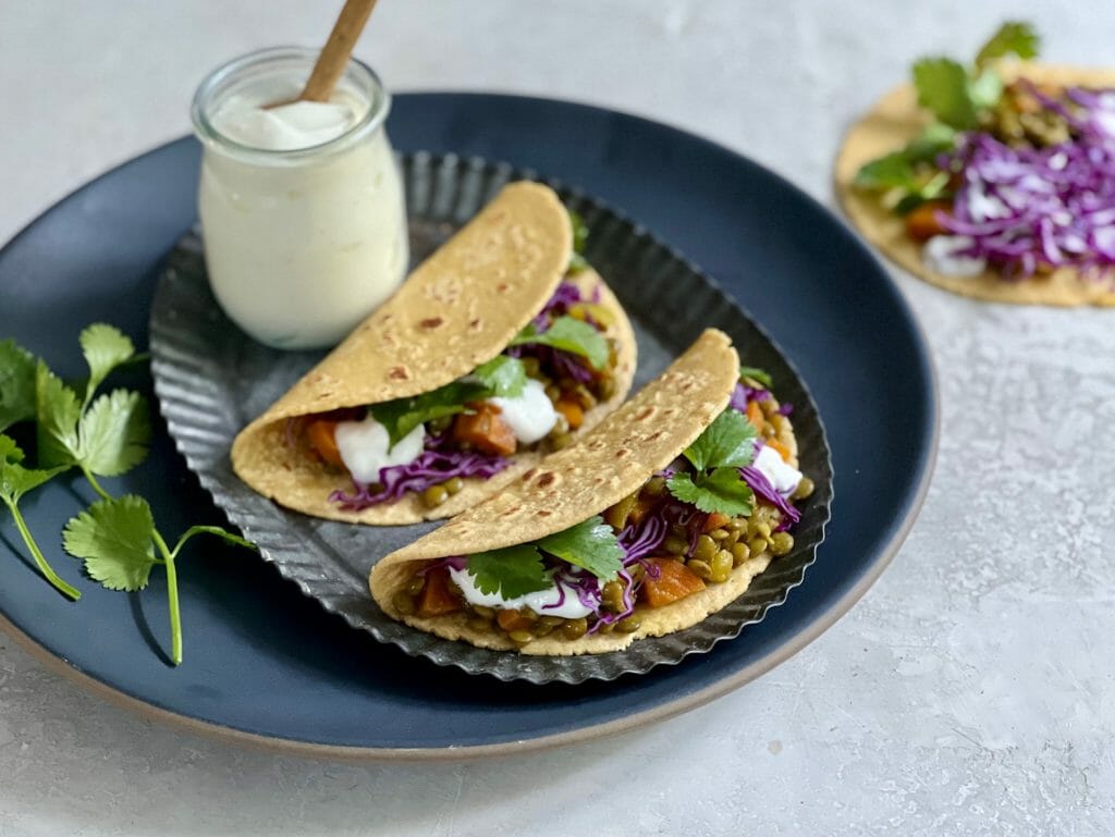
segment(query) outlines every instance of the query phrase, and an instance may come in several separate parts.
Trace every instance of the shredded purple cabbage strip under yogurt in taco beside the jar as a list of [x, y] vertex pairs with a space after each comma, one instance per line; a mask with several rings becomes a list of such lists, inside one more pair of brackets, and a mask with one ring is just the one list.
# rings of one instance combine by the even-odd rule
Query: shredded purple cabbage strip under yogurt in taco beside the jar
[[379, 471], [379, 484], [352, 480], [355, 492], [336, 490], [329, 495], [346, 512], [359, 512], [380, 503], [394, 503], [407, 492], [424, 492], [453, 477], [495, 476], [508, 461], [475, 450], [460, 450], [447, 435], [427, 436], [426, 449], [409, 465], [392, 465]]

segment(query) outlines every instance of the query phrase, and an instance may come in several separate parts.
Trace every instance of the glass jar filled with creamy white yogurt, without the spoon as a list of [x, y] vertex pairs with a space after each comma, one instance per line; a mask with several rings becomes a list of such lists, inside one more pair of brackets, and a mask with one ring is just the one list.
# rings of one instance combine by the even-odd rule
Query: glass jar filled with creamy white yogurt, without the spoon
[[293, 101], [317, 56], [237, 58], [192, 108], [210, 284], [240, 328], [279, 349], [339, 342], [398, 288], [409, 259], [384, 128], [390, 96], [351, 60], [329, 101]]

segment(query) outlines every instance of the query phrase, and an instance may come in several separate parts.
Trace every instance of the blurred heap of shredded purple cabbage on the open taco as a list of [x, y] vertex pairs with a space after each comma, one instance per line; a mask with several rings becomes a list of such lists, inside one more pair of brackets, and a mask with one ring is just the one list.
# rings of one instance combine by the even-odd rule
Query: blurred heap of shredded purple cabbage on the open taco
[[1030, 91], [1068, 123], [1073, 139], [1012, 148], [988, 134], [964, 135], [942, 168], [962, 184], [952, 215], [939, 220], [970, 245], [957, 254], [998, 265], [1006, 278], [1039, 266], [1073, 266], [1101, 276], [1115, 266], [1115, 93], [1069, 88], [1066, 107]]

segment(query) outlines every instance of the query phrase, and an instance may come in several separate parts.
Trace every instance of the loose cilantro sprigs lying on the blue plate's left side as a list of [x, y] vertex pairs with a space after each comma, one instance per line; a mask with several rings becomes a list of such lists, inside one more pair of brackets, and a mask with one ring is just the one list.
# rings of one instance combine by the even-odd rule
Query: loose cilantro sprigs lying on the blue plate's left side
[[175, 559], [194, 536], [210, 534], [253, 548], [244, 538], [219, 526], [192, 526], [169, 547], [155, 526], [147, 500], [137, 495], [114, 497], [99, 478], [116, 477], [139, 465], [148, 452], [151, 418], [138, 392], [98, 388], [120, 367], [145, 359], [118, 329], [95, 323], [79, 338], [89, 369], [84, 386], [71, 387], [46, 362], [12, 341], [0, 342], [0, 429], [33, 419], [39, 467], [23, 465], [14, 440], [0, 434], [0, 499], [11, 512], [20, 536], [43, 576], [61, 593], [80, 593], [50, 567], [20, 514], [28, 492], [72, 469], [80, 470], [99, 499], [66, 524], [62, 544], [84, 562], [88, 575], [108, 590], [138, 591], [151, 571], [166, 571], [171, 621], [171, 660], [182, 662], [182, 617]]

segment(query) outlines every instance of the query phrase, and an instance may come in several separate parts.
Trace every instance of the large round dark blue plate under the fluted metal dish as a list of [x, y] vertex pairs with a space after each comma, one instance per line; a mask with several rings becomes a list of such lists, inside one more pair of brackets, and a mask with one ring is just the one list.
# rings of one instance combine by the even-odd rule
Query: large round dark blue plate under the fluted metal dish
[[[598, 737], [692, 709], [769, 670], [836, 621], [883, 571], [924, 496], [937, 402], [921, 335], [885, 272], [808, 196], [673, 128], [510, 96], [396, 98], [396, 147], [503, 159], [575, 184], [701, 265], [796, 364], [824, 417], [836, 500], [806, 583], [733, 642], [685, 665], [576, 687], [498, 683], [414, 660], [347, 627], [251, 553], [196, 544], [180, 562], [185, 662], [173, 669], [165, 585], [110, 593], [79, 575], [57, 533], [91, 499], [80, 481], [25, 500], [48, 559], [84, 593], [64, 601], [0, 518], [0, 626], [98, 693], [225, 737], [322, 756], [452, 757]], [[0, 251], [0, 338], [81, 372], [94, 320], [146, 344], [153, 281], [195, 217], [198, 146], [182, 139], [74, 193]], [[149, 389], [136, 376], [132, 383]], [[178, 533], [220, 513], [157, 432], [117, 480]]]

